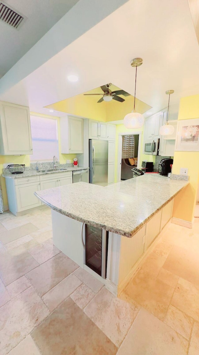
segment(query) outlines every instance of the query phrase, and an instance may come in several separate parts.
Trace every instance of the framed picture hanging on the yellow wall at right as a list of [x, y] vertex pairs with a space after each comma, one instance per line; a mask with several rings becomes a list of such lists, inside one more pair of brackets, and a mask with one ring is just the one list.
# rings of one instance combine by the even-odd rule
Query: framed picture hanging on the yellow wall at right
[[199, 118], [178, 121], [175, 151], [199, 152]]

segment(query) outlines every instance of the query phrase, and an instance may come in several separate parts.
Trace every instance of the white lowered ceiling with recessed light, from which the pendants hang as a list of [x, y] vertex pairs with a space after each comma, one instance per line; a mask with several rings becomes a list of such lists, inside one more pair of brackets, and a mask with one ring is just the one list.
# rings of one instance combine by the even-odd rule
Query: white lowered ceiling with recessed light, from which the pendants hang
[[[0, 99], [50, 114], [44, 106], [107, 82], [133, 95], [135, 69], [130, 61], [135, 57], [143, 58], [136, 96], [153, 107], [151, 113], [167, 106], [168, 89], [175, 91], [171, 103], [199, 93], [199, 46], [187, 0], [175, 0], [175, 6], [173, 0], [127, 1]], [[79, 81], [68, 82], [70, 73], [76, 73]]]

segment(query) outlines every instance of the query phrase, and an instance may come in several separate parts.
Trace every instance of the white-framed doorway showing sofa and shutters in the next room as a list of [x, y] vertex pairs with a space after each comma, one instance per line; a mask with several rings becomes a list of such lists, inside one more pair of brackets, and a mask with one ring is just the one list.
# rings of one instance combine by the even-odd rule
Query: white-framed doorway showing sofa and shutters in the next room
[[133, 178], [131, 169], [139, 166], [142, 132], [119, 133], [117, 181]]

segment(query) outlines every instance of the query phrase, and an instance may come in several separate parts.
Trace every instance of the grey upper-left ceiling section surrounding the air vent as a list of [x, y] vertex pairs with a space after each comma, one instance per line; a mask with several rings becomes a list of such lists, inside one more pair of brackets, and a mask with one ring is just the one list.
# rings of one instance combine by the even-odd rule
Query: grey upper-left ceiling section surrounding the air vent
[[19, 30], [0, 21], [0, 77], [79, 0], [5, 0], [27, 17]]

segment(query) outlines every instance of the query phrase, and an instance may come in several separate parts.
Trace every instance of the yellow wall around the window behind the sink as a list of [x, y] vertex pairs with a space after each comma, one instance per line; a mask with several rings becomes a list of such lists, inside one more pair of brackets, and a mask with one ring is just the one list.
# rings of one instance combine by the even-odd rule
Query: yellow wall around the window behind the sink
[[[60, 141], [60, 127], [59, 127], [59, 117], [52, 117], [48, 115], [43, 115], [35, 112], [30, 112], [31, 115], [40, 116], [45, 118], [53, 118], [57, 120], [57, 130], [58, 130], [58, 142], [59, 142], [59, 162], [61, 164], [66, 163], [66, 160], [73, 160], [75, 154], [61, 154], [61, 141]], [[53, 157], [52, 157], [53, 160]], [[30, 166], [30, 155], [0, 155], [0, 174], [2, 174], [3, 164], [13, 163], [13, 164], [25, 164], [25, 166]], [[6, 183], [5, 178], [0, 176], [0, 184], [2, 197], [4, 202], [4, 208], [8, 208], [7, 193], [6, 193]]]

